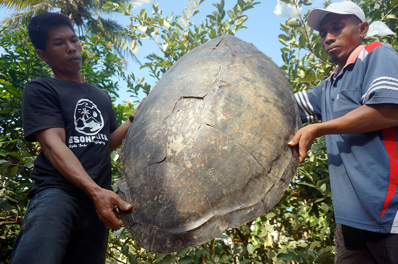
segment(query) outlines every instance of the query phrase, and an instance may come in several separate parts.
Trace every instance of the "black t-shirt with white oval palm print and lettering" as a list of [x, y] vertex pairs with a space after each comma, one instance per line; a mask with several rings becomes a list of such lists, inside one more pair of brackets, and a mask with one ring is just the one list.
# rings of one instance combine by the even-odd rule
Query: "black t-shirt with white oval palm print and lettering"
[[[22, 95], [22, 122], [27, 141], [37, 141], [40, 129], [65, 128], [65, 144], [79, 159], [89, 176], [102, 188], [110, 189], [110, 133], [117, 128], [109, 95], [100, 88], [74, 81], [38, 78], [29, 82]], [[55, 187], [72, 195], [88, 195], [66, 180], [40, 151], [30, 174], [35, 180], [28, 197]]]

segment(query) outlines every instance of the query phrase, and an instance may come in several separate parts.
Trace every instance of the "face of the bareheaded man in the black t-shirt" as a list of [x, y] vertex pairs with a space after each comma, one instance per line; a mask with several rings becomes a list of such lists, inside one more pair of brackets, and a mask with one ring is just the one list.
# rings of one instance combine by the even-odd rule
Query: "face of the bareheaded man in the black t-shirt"
[[82, 67], [82, 45], [76, 34], [67, 25], [50, 27], [47, 30], [46, 50], [41, 51], [44, 61], [50, 64], [54, 74], [70, 75]]

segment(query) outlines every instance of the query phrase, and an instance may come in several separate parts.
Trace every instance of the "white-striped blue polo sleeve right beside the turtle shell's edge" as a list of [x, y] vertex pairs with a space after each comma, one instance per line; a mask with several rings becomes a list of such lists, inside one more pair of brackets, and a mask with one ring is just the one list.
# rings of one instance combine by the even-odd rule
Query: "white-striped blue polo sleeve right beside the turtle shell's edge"
[[[325, 81], [324, 81], [325, 82]], [[321, 116], [321, 93], [323, 82], [308, 91], [295, 93], [301, 121], [315, 122], [322, 119]]]

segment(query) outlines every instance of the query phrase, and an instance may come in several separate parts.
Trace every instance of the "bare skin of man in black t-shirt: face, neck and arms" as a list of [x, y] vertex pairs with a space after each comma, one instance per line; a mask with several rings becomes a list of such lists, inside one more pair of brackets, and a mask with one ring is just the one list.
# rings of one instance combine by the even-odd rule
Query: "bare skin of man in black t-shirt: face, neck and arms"
[[[61, 25], [49, 28], [47, 35], [46, 50], [37, 49], [36, 53], [50, 65], [54, 73], [53, 78], [84, 83], [80, 73], [82, 45], [76, 34], [67, 25]], [[145, 98], [135, 109], [134, 116], [144, 100]], [[127, 120], [110, 134], [110, 152], [120, 146], [130, 125], [131, 121]], [[94, 201], [98, 216], [105, 227], [116, 229], [122, 225], [116, 206], [128, 211], [132, 205], [123, 201], [113, 191], [103, 189], [94, 182], [78, 158], [66, 146], [65, 129], [42, 129], [34, 135], [54, 168], [68, 181], [84, 190]]]

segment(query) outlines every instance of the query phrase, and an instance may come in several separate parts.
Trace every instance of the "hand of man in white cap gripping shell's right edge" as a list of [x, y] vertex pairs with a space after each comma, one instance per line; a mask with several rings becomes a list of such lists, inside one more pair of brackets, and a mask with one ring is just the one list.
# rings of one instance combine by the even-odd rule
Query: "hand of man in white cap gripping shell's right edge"
[[296, 135], [289, 141], [288, 145], [294, 147], [298, 144], [298, 152], [300, 157], [299, 163], [302, 163], [307, 157], [307, 152], [311, 148], [315, 138], [319, 137], [317, 130], [318, 124], [307, 125], [297, 131]]

